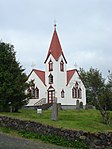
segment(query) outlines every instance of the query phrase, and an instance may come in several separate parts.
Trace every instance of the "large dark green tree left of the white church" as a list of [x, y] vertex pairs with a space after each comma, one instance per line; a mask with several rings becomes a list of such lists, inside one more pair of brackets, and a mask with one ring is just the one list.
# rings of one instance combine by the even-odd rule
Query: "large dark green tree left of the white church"
[[16, 61], [14, 46], [0, 42], [0, 110], [17, 112], [27, 103], [27, 76]]

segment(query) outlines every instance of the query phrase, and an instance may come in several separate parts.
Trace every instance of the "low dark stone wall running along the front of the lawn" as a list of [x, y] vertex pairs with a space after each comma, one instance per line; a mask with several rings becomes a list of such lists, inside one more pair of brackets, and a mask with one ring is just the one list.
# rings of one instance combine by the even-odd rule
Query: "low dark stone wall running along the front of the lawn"
[[43, 125], [38, 122], [23, 121], [5, 116], [0, 116], [0, 126], [43, 135], [58, 135], [70, 141], [83, 140], [85, 143], [90, 145], [90, 149], [106, 149], [108, 147], [112, 147], [112, 132], [89, 133], [84, 131], [68, 130]]

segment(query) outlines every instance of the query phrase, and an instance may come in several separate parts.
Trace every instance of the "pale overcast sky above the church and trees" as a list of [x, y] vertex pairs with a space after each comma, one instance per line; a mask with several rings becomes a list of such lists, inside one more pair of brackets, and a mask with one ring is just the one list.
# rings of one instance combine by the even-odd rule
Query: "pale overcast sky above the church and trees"
[[29, 74], [44, 70], [54, 20], [67, 68], [112, 71], [112, 0], [0, 0], [0, 39]]

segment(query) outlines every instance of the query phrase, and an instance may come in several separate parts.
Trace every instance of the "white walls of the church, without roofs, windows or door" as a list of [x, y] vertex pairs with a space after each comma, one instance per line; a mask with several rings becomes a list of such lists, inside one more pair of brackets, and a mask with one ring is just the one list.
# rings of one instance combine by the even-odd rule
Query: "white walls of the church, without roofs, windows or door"
[[[50, 59], [53, 62], [53, 71], [49, 71], [49, 61]], [[50, 73], [53, 75], [53, 84], [52, 87], [55, 89], [55, 97], [57, 97], [57, 103], [61, 103], [61, 105], [76, 105], [76, 98], [72, 98], [72, 88], [76, 81], [79, 84], [79, 87], [82, 90], [82, 98], [78, 99], [80, 102], [83, 102], [83, 105], [86, 104], [86, 89], [81, 81], [77, 71], [75, 71], [72, 76], [69, 84], [67, 84], [67, 71], [66, 71], [66, 63], [64, 61], [64, 72], [60, 71], [60, 62], [63, 59], [63, 56], [60, 56], [59, 60], [56, 61], [52, 55], [49, 56], [45, 67], [45, 84], [40, 80], [40, 78], [33, 71], [28, 78], [28, 81], [34, 80], [35, 85], [39, 89], [39, 99], [46, 98], [46, 102], [48, 102], [48, 94], [47, 90], [50, 87], [49, 84], [49, 75]], [[61, 91], [64, 90], [64, 98], [61, 98]], [[32, 99], [33, 100], [33, 99]]]

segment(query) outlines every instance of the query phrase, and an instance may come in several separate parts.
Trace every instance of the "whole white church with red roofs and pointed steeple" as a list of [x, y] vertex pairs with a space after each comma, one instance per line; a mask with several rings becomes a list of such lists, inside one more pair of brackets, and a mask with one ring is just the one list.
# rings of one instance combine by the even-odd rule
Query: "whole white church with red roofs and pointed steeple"
[[77, 102], [86, 105], [85, 86], [77, 69], [67, 70], [67, 60], [56, 25], [44, 65], [45, 71], [33, 69], [28, 76], [28, 82], [33, 80], [33, 86], [28, 89], [32, 95], [28, 107], [53, 102], [61, 104], [65, 109], [75, 108]]

